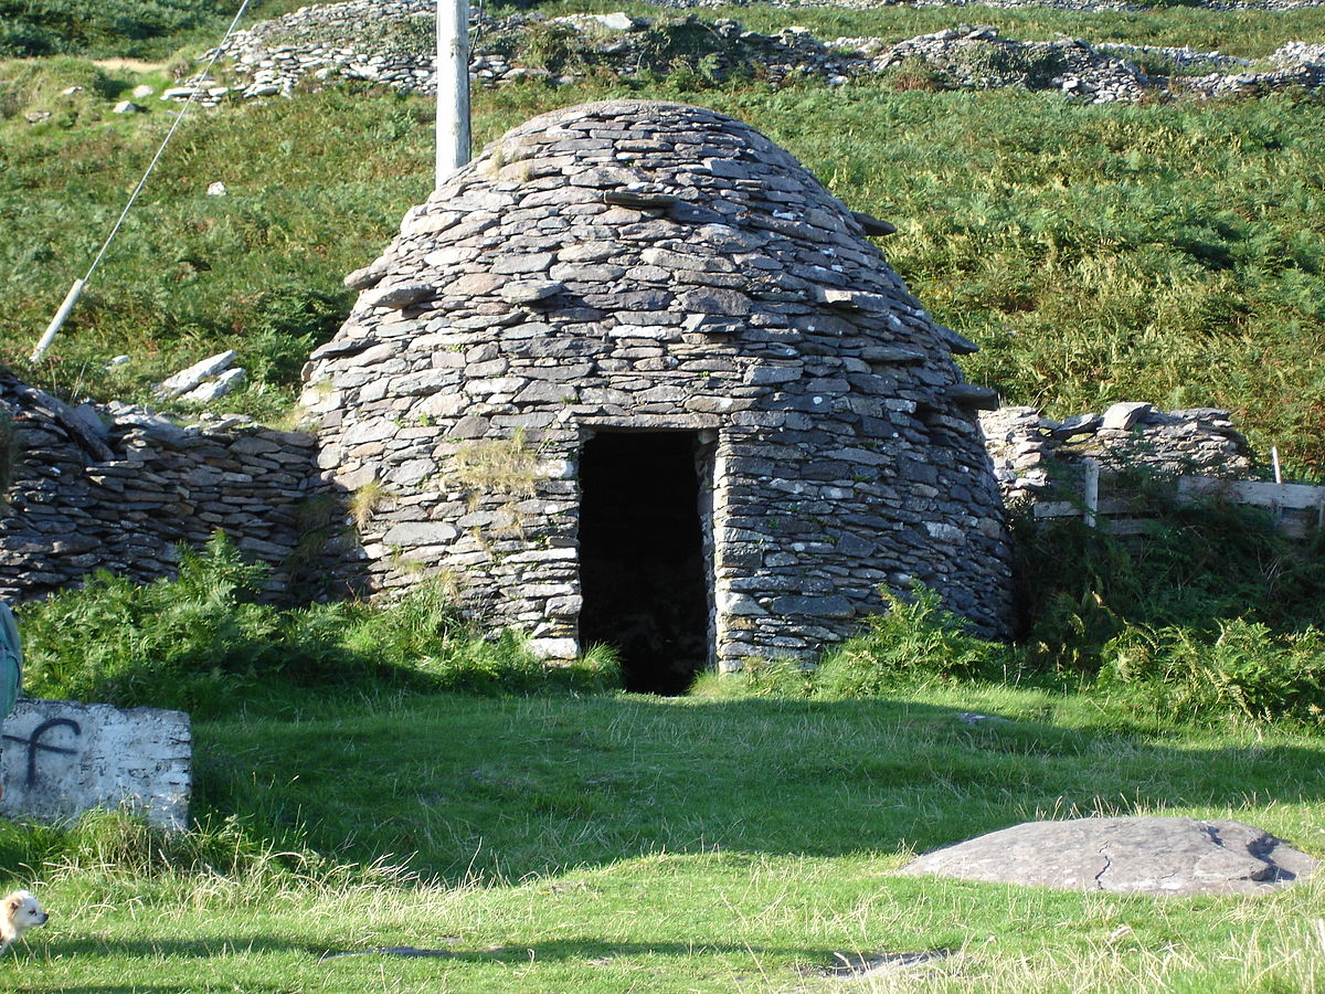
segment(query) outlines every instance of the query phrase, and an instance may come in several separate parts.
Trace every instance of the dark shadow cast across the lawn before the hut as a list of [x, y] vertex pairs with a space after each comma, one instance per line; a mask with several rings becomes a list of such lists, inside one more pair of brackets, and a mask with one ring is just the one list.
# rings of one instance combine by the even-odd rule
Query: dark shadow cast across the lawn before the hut
[[902, 855], [1035, 818], [1325, 799], [1325, 742], [1285, 738], [900, 700], [437, 696], [200, 725], [196, 766], [204, 806], [282, 844], [509, 881], [657, 852]]

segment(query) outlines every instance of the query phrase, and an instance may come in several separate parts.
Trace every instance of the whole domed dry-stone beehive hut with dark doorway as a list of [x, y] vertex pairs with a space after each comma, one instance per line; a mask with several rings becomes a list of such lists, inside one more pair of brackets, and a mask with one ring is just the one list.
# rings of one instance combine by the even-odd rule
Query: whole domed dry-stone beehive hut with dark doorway
[[611, 101], [489, 144], [348, 282], [306, 370], [375, 588], [447, 573], [628, 684], [807, 657], [920, 580], [1003, 631], [951, 353], [856, 215], [723, 114]]

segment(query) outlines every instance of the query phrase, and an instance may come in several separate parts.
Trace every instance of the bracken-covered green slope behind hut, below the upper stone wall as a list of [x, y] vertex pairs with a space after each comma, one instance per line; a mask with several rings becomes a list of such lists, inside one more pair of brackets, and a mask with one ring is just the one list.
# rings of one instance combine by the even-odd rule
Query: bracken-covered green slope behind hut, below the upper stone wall
[[[127, 82], [97, 85], [114, 95]], [[86, 269], [168, 125], [159, 109], [111, 119], [110, 95], [91, 91], [64, 98], [54, 123], [0, 125], [9, 362]], [[476, 94], [476, 131], [486, 140], [533, 113], [627, 93], [751, 121], [849, 205], [896, 223], [890, 261], [984, 347], [967, 374], [1008, 403], [1227, 407], [1292, 469], [1325, 465], [1320, 98], [1080, 106], [886, 81], [515, 86]], [[431, 119], [421, 99], [338, 89], [187, 123], [38, 378], [132, 394], [233, 346], [257, 374], [240, 404], [274, 416], [348, 307], [341, 277], [427, 195]], [[208, 196], [213, 182], [228, 196]], [[132, 362], [105, 375], [121, 353]]]

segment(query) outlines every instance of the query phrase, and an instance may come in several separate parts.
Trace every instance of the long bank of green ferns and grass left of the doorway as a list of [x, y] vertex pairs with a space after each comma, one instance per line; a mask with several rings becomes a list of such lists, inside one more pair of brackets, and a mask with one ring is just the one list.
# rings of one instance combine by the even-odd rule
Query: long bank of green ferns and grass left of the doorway
[[[265, 566], [224, 534], [183, 550], [179, 575], [138, 584], [98, 573], [21, 612], [32, 696], [183, 708], [196, 717], [278, 702], [292, 690], [382, 688], [529, 693], [620, 685], [610, 653], [545, 665], [513, 632], [482, 637], [441, 583], [399, 602], [278, 608]], [[77, 635], [77, 637], [73, 637]]]

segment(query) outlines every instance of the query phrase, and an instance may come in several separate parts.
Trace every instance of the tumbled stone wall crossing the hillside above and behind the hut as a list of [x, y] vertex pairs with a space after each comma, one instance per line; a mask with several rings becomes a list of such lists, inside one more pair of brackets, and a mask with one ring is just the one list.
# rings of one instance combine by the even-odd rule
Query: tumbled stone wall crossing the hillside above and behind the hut
[[[195, 78], [162, 99], [216, 105], [228, 97], [290, 95], [303, 85], [368, 81], [401, 93], [435, 90], [431, 0], [348, 0], [311, 5], [238, 32], [223, 54], [232, 82]], [[829, 83], [925, 65], [935, 87], [1055, 89], [1086, 101], [1137, 101], [1147, 93], [1198, 97], [1264, 93], [1325, 82], [1320, 45], [1289, 42], [1275, 53], [1279, 68], [1252, 72], [1243, 60], [1191, 49], [1090, 45], [1081, 40], [1022, 42], [992, 27], [954, 28], [888, 45], [880, 38], [819, 40], [804, 28], [778, 34], [745, 30], [737, 21], [693, 16], [643, 19], [624, 13], [545, 19], [476, 15], [470, 73], [481, 85], [531, 77], [574, 82], [588, 72], [621, 78], [641, 72], [733, 73], [780, 85], [816, 76]], [[1206, 76], [1146, 76], [1129, 58], [1163, 56], [1179, 68], [1208, 65]], [[1234, 70], [1234, 72], [1223, 72]]]

